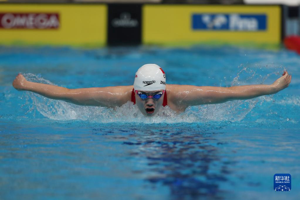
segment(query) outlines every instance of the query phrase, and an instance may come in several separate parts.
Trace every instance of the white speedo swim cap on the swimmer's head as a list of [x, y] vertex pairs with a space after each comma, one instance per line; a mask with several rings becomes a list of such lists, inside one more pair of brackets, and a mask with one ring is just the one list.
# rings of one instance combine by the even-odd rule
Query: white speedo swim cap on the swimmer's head
[[166, 74], [157, 64], [145, 64], [135, 73], [133, 85], [134, 90], [165, 90]]

